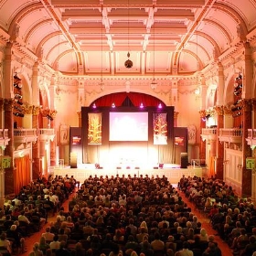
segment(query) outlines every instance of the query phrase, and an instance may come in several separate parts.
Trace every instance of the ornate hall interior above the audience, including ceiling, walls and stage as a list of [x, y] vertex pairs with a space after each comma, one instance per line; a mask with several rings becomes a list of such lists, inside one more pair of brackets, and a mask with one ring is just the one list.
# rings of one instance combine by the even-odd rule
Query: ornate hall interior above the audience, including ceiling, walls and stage
[[255, 0], [0, 1], [0, 208], [66, 175], [212, 178], [255, 203], [255, 14]]

